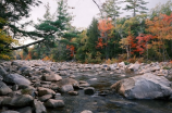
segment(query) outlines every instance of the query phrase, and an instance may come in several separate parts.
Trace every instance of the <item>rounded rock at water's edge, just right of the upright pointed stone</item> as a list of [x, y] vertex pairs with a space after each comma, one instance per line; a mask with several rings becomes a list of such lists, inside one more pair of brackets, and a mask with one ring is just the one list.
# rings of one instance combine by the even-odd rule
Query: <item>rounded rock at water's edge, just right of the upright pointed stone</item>
[[45, 105], [47, 108], [62, 108], [62, 106], [64, 106], [64, 101], [63, 100], [49, 99], [47, 102], [45, 102]]

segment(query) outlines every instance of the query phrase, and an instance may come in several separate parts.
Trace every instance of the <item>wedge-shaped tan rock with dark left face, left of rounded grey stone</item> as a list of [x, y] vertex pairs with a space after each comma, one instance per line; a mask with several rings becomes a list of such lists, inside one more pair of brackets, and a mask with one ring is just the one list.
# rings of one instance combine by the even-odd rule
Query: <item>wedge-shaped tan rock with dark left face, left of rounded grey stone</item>
[[44, 87], [38, 87], [38, 96], [45, 96], [45, 95], [54, 95], [56, 92], [51, 89], [44, 88]]

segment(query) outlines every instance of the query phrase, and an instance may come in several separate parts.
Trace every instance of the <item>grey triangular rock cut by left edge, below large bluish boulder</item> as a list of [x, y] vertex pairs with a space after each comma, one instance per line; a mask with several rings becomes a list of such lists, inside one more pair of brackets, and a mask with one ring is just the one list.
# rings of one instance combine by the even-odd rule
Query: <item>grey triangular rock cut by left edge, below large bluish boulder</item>
[[0, 96], [8, 95], [10, 92], [12, 92], [12, 90], [3, 81], [0, 80]]

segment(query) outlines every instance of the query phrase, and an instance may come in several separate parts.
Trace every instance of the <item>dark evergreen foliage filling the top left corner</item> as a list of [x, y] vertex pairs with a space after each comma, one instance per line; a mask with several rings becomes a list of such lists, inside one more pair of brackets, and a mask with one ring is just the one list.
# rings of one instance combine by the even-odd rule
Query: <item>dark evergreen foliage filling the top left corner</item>
[[39, 5], [39, 3], [41, 3], [39, 0], [1, 0], [0, 17], [8, 23], [0, 23], [0, 29], [9, 26], [14, 32], [14, 28], [17, 29], [15, 23], [19, 23], [23, 17], [28, 17], [30, 8]]

